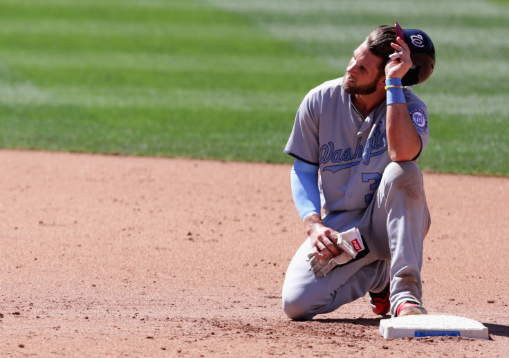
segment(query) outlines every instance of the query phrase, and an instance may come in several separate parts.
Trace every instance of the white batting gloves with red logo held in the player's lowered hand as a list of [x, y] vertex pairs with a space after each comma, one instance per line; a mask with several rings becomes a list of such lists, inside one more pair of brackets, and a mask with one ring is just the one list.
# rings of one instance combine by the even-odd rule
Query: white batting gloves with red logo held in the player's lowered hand
[[364, 244], [362, 243], [362, 238], [360, 237], [360, 232], [357, 227], [353, 227], [353, 229], [349, 229], [346, 232], [337, 233], [336, 239], [336, 244], [342, 249], [342, 253], [335, 256], [335, 258], [320, 261], [315, 254], [308, 254], [311, 271], [318, 277], [325, 276], [337, 265], [349, 262], [357, 256], [358, 252], [364, 249]]

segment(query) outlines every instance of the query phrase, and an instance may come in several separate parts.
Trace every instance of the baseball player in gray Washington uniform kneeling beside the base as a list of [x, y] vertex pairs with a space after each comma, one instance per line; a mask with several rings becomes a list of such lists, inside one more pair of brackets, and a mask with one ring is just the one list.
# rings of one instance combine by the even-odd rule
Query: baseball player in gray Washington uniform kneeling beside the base
[[283, 285], [291, 319], [313, 319], [367, 292], [376, 314], [427, 314], [420, 269], [430, 218], [416, 161], [429, 125], [408, 86], [427, 80], [434, 57], [425, 32], [379, 26], [344, 77], [299, 106], [284, 151], [294, 158], [292, 193], [308, 238]]

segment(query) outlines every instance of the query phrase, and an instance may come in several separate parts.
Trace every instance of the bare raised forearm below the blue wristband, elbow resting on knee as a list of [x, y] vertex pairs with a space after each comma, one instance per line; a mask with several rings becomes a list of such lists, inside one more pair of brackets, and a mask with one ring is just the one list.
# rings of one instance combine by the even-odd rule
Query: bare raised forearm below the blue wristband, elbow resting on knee
[[420, 152], [420, 138], [411, 122], [406, 103], [387, 106], [387, 144], [394, 162], [416, 158]]

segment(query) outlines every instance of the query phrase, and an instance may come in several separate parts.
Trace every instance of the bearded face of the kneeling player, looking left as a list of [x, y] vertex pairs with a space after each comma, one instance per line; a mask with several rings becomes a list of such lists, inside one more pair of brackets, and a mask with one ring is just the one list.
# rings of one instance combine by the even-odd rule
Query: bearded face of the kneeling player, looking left
[[351, 95], [370, 95], [375, 92], [382, 77], [381, 62], [382, 59], [373, 55], [363, 42], [353, 51], [350, 64], [346, 68], [342, 82], [344, 91]]

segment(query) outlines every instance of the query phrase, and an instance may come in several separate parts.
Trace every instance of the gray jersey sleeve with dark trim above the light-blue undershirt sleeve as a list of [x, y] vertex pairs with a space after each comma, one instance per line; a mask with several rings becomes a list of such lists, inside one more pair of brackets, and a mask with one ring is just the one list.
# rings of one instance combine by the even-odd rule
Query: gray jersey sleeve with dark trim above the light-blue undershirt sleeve
[[318, 165], [318, 126], [320, 99], [317, 92], [304, 97], [295, 115], [295, 122], [284, 152], [308, 164]]

